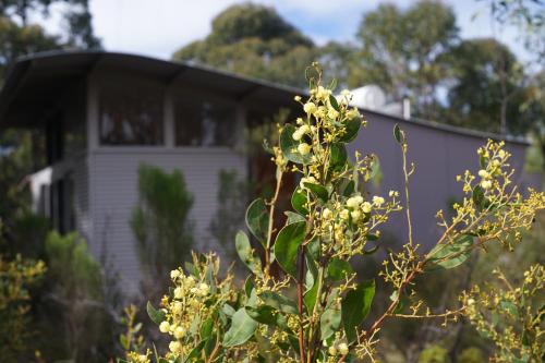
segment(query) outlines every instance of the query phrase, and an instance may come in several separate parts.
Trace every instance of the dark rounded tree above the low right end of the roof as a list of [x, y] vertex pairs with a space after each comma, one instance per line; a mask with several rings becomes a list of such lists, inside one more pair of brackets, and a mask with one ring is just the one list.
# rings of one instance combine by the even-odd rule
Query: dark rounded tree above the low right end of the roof
[[[523, 73], [514, 55], [491, 38], [463, 40], [441, 55], [449, 64], [447, 122], [489, 132], [523, 134]], [[501, 126], [504, 125], [504, 126]]]

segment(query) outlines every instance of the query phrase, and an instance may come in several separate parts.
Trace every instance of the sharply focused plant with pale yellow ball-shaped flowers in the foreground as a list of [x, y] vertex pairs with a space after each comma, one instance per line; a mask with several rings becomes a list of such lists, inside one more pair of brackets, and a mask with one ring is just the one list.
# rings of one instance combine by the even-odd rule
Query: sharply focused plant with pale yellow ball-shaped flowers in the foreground
[[[194, 254], [192, 264], [171, 273], [172, 288], [161, 307], [148, 304], [149, 316], [169, 337], [169, 351], [130, 352], [130, 362], [149, 362], [154, 355], [157, 362], [374, 361], [386, 319], [439, 317], [446, 324], [464, 311], [462, 304], [432, 313], [412, 292], [416, 276], [455, 268], [493, 241], [512, 246], [520, 229], [530, 228], [536, 210], [545, 208], [543, 193], [529, 191], [523, 197], [511, 185], [510, 155], [502, 143], [489, 141], [479, 150], [479, 177], [465, 171], [458, 178], [463, 201], [455, 205], [452, 218], [437, 214], [444, 232], [423, 252], [412, 237], [408, 185], [414, 166], [407, 160], [405, 133], [393, 129], [403, 160], [403, 198], [397, 191], [368, 195], [365, 183], [375, 158], [355, 153], [349, 159], [346, 148], [366, 122], [350, 107], [349, 92], [336, 97], [331, 86], [322, 84], [316, 64], [308, 82], [308, 98], [295, 97], [305, 116], [281, 126], [271, 149], [274, 196], [255, 199], [246, 211], [247, 230], [258, 243], [253, 247], [244, 231], [235, 238], [238, 255], [251, 273], [244, 286], [238, 289], [230, 275], [218, 278], [214, 254]], [[292, 193], [292, 210], [284, 213], [286, 222], [277, 230], [286, 173], [296, 173], [301, 181]], [[359, 279], [351, 261], [375, 252], [380, 228], [401, 211], [407, 243], [387, 254], [379, 274], [391, 301], [373, 306], [375, 280]], [[281, 268], [279, 274], [274, 265]]]

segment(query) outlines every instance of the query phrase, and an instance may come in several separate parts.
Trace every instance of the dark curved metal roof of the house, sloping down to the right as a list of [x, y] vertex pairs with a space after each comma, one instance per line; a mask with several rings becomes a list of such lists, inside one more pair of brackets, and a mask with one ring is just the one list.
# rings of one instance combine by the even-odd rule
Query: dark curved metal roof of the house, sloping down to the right
[[[166, 84], [180, 82], [208, 88], [237, 100], [266, 102], [271, 106], [290, 107], [293, 105], [296, 108], [293, 97], [307, 94], [298, 88], [234, 75], [189, 62], [108, 51], [49, 51], [20, 58], [10, 69], [0, 92], [0, 128], [35, 124], [44, 114], [43, 112], [55, 104], [60, 94], [77, 82], [84, 81], [94, 70], [99, 69], [135, 73]], [[495, 134], [437, 122], [405, 120], [366, 109], [362, 109], [362, 112], [370, 118], [373, 114], [379, 114], [400, 123], [411, 122], [470, 137], [501, 138]], [[508, 137], [508, 141], [528, 144], [528, 141], [521, 137]]]

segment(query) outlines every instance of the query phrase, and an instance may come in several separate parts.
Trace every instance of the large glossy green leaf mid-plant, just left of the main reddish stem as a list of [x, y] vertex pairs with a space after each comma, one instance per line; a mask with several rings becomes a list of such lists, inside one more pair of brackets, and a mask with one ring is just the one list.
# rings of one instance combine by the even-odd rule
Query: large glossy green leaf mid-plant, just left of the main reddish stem
[[276, 261], [282, 269], [295, 276], [298, 249], [305, 238], [306, 222], [299, 221], [284, 226], [275, 242]]

